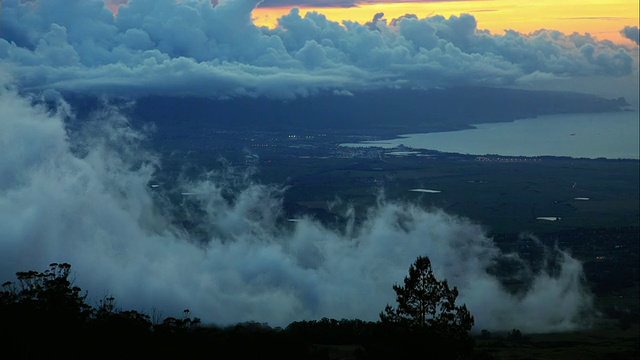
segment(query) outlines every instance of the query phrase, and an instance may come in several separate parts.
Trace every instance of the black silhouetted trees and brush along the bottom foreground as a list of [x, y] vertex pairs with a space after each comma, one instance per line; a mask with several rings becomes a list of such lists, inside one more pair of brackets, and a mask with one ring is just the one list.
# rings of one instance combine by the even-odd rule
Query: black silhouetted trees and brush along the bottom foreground
[[[426, 256], [409, 268], [404, 284], [393, 285], [397, 305], [379, 321], [328, 319], [295, 321], [285, 328], [257, 322], [204, 325], [185, 310], [181, 318], [152, 316], [117, 306], [105, 296], [96, 306], [70, 279], [71, 265], [16, 273], [0, 290], [0, 343], [14, 358], [140, 358], [231, 354], [235, 358], [336, 359], [331, 347], [350, 359], [490, 358], [474, 348], [474, 319], [457, 305], [458, 290], [439, 281]], [[346, 357], [345, 357], [346, 358]]]

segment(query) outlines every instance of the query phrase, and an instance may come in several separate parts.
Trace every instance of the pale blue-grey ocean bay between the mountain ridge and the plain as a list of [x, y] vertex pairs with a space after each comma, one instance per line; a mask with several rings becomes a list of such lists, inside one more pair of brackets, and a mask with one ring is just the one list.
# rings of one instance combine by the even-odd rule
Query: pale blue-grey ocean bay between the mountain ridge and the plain
[[545, 115], [508, 123], [477, 124], [475, 129], [406, 134], [393, 140], [342, 146], [404, 145], [469, 155], [640, 159], [638, 123], [638, 111]]

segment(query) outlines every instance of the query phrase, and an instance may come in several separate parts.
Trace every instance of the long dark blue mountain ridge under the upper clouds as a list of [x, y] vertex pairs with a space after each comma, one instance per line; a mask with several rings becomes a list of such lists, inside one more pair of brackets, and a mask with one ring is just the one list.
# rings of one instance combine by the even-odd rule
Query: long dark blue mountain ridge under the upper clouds
[[[71, 96], [88, 110], [97, 100]], [[375, 90], [353, 95], [325, 93], [295, 100], [144, 97], [131, 109], [135, 121], [159, 127], [198, 125], [220, 130], [336, 131], [391, 135], [451, 131], [471, 124], [508, 122], [549, 114], [622, 111], [624, 98], [491, 87]]]

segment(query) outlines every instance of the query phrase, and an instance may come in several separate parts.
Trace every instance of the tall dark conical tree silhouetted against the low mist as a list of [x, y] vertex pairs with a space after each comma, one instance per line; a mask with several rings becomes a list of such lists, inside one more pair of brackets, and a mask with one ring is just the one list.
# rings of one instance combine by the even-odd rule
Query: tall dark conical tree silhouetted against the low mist
[[387, 304], [380, 313], [382, 322], [452, 337], [466, 337], [473, 327], [474, 319], [466, 305], [455, 304], [458, 289], [436, 279], [427, 256], [419, 256], [409, 268], [404, 286], [393, 285], [393, 290], [398, 306]]

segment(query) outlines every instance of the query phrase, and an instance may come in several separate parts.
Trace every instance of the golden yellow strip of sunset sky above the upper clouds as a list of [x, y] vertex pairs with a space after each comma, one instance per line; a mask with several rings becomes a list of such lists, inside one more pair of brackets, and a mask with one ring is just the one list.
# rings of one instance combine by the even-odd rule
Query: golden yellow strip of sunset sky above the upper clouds
[[[446, 1], [446, 2], [396, 2], [363, 4], [352, 8], [300, 8], [300, 15], [316, 11], [329, 20], [342, 22], [350, 20], [365, 23], [376, 13], [384, 13], [387, 20], [405, 14], [415, 14], [419, 18], [433, 15], [472, 14], [478, 21], [478, 28], [493, 34], [502, 34], [511, 29], [520, 33], [530, 33], [539, 29], [559, 30], [567, 34], [589, 33], [603, 40], [630, 43], [620, 35], [625, 26], [638, 26], [638, 0], [487, 0], [487, 1]], [[279, 17], [288, 14], [287, 8], [262, 8], [253, 11], [254, 23], [273, 27]]]

